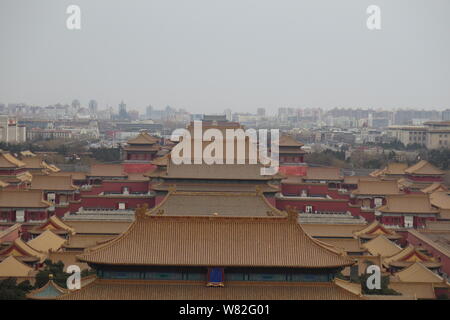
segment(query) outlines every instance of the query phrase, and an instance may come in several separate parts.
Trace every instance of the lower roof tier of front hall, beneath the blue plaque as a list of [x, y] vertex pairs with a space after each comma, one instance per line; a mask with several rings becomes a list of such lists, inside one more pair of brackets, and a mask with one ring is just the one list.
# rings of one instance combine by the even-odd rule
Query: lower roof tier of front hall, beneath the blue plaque
[[322, 283], [227, 282], [207, 287], [201, 281], [97, 279], [59, 300], [359, 300], [343, 286]]

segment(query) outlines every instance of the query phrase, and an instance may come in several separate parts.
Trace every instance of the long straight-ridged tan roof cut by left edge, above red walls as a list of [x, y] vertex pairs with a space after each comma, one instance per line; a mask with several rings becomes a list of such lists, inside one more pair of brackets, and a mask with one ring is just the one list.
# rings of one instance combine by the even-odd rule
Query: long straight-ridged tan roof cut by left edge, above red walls
[[47, 208], [40, 190], [0, 190], [0, 208]]

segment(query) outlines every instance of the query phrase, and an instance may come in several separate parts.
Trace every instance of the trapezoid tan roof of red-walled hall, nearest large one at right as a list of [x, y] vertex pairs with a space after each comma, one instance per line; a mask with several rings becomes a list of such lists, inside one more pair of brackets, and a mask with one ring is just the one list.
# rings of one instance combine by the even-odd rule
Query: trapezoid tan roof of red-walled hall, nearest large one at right
[[427, 194], [389, 195], [386, 197], [386, 204], [378, 210], [387, 213], [438, 213], [431, 206]]

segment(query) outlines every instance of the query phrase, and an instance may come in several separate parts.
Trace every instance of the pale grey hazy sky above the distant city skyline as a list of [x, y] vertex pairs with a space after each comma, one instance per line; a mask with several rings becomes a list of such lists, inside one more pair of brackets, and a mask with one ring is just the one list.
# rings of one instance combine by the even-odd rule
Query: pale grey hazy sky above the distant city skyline
[[[79, 31], [66, 8], [81, 8]], [[366, 27], [381, 7], [382, 30]], [[0, 103], [450, 108], [449, 0], [0, 0]]]

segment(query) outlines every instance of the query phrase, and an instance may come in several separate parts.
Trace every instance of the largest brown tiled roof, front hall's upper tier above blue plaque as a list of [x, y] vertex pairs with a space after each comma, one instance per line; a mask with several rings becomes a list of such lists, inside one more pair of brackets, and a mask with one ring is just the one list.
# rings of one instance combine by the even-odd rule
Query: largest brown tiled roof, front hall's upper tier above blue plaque
[[[83, 262], [110, 265], [336, 268], [353, 260], [307, 235], [294, 216], [150, 216], [116, 239], [89, 250]], [[195, 253], [195, 254], [194, 254]]]

